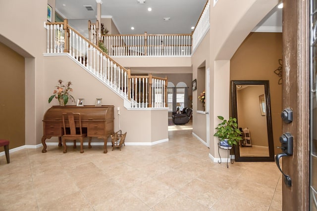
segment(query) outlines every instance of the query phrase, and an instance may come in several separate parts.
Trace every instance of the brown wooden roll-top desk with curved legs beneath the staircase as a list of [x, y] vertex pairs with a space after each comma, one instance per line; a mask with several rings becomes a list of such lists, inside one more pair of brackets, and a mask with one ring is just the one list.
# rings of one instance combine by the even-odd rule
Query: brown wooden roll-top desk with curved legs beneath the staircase
[[52, 106], [43, 118], [42, 152], [47, 152], [45, 140], [58, 137], [58, 146], [61, 146], [63, 135], [62, 113], [80, 113], [83, 130], [87, 130], [88, 137], [104, 139], [104, 153], [107, 153], [107, 139], [114, 133], [114, 106]]

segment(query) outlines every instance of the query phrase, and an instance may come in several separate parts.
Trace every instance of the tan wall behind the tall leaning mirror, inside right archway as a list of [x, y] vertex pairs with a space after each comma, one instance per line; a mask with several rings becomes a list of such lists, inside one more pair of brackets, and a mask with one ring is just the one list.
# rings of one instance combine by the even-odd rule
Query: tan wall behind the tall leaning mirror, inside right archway
[[282, 33], [250, 33], [230, 61], [230, 80], [269, 81], [275, 154], [280, 152], [276, 147], [282, 134], [282, 85], [274, 70], [281, 58]]

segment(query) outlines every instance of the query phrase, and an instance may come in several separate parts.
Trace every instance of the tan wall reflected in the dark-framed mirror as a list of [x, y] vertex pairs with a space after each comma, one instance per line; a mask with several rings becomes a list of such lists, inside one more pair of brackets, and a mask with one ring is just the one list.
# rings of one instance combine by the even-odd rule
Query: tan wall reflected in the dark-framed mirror
[[237, 89], [238, 127], [248, 128], [252, 145], [268, 146], [266, 116], [262, 116], [259, 96], [264, 94], [264, 85], [249, 85]]

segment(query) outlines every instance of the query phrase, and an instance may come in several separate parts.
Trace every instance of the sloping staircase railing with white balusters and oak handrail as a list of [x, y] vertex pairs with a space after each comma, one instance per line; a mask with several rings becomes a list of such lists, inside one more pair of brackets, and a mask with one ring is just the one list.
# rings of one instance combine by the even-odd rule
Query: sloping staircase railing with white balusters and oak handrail
[[[64, 22], [47, 23], [47, 53], [67, 53], [100, 82], [130, 101], [131, 108], [167, 107], [167, 78], [132, 76], [96, 44]], [[97, 28], [96, 28], [97, 30]]]

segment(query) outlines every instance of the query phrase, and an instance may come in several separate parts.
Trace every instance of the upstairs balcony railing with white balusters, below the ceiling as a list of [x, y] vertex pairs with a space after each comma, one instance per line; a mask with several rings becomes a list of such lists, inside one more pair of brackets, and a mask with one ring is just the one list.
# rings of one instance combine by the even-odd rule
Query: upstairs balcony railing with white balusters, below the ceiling
[[[98, 36], [99, 23], [88, 29], [91, 39]], [[97, 26], [97, 27], [96, 27]], [[190, 56], [204, 38], [210, 26], [210, 0], [198, 19], [192, 34], [178, 35], [100, 35], [109, 56]], [[96, 40], [90, 40], [97, 43]]]

